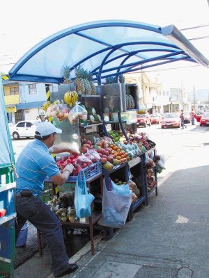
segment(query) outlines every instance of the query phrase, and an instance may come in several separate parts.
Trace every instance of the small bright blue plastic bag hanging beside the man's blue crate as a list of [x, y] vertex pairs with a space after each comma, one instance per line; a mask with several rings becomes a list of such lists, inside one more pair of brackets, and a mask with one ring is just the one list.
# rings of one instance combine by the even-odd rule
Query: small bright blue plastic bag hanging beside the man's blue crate
[[87, 218], [91, 216], [91, 203], [93, 199], [94, 196], [88, 193], [85, 174], [83, 171], [80, 171], [75, 185], [74, 199], [77, 218]]

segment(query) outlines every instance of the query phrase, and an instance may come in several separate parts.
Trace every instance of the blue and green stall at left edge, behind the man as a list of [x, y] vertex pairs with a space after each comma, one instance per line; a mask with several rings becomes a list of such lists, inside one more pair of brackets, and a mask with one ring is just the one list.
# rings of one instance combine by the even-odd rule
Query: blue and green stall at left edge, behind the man
[[15, 159], [0, 80], [0, 277], [13, 277], [15, 254]]

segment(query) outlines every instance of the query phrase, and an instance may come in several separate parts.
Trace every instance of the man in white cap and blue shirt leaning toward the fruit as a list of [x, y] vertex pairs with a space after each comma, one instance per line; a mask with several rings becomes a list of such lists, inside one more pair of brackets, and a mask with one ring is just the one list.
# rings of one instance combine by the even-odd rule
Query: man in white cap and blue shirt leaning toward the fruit
[[40, 195], [46, 176], [61, 186], [72, 173], [73, 165], [66, 165], [61, 173], [54, 161], [53, 154], [75, 149], [54, 145], [56, 133], [62, 133], [50, 122], [41, 122], [36, 127], [35, 140], [29, 142], [17, 158], [16, 196], [17, 212], [16, 238], [26, 220], [29, 220], [45, 236], [51, 256], [52, 271], [55, 277], [62, 277], [77, 270], [76, 263], [68, 263], [61, 223], [49, 206], [42, 202]]

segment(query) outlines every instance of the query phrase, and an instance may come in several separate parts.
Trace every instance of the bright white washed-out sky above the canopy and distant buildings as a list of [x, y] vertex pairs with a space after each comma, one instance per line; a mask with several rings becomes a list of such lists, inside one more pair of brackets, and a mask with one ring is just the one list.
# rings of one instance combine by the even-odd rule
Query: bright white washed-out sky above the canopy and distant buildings
[[[1, 6], [0, 12], [1, 72], [7, 73], [31, 47], [49, 35], [77, 24], [104, 19], [159, 26], [174, 24], [187, 39], [194, 39], [190, 42], [209, 60], [207, 0], [10, 0], [5, 9]], [[165, 88], [209, 89], [209, 68], [195, 63], [171, 63], [150, 68], [146, 73], [153, 81], [162, 82]]]

